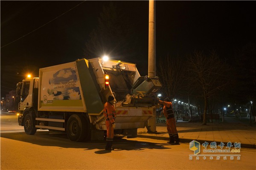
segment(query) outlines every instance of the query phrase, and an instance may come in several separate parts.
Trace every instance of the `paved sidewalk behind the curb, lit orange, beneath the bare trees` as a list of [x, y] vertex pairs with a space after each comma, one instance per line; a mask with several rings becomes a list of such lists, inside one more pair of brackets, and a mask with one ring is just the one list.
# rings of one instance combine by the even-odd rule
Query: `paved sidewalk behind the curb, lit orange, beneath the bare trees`
[[[235, 142], [241, 143], [241, 147], [256, 148], [256, 123], [250, 123], [250, 119], [235, 116], [226, 116], [225, 121], [207, 122], [202, 125], [200, 122], [183, 122], [178, 120], [176, 123], [180, 142], [189, 143], [196, 140], [204, 142]], [[138, 129], [138, 137], [160, 139], [169, 141], [169, 134], [165, 123], [157, 123], [156, 133], [147, 133], [146, 128]]]

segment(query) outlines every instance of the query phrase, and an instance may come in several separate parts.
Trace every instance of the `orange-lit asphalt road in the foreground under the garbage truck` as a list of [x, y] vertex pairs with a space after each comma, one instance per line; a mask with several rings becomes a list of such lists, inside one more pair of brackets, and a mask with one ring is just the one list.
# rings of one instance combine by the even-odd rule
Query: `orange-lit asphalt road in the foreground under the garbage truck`
[[169, 145], [166, 141], [134, 138], [116, 139], [113, 151], [105, 141], [72, 142], [65, 133], [38, 130], [26, 135], [15, 114], [1, 112], [1, 170], [255, 170], [256, 150], [241, 148], [240, 160], [204, 160], [189, 155], [188, 143]]

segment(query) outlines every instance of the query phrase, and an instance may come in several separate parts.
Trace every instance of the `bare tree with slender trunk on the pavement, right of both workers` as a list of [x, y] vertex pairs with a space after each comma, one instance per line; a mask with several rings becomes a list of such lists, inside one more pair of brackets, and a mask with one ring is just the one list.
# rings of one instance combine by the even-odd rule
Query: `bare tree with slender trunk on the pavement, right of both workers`
[[191, 72], [191, 83], [195, 83], [201, 88], [202, 96], [204, 97], [204, 121], [203, 125], [207, 124], [207, 108], [208, 99], [217, 91], [221, 91], [228, 83], [227, 72], [229, 67], [221, 61], [215, 51], [209, 55], [204, 55], [202, 51], [195, 51], [189, 57], [188, 64]]

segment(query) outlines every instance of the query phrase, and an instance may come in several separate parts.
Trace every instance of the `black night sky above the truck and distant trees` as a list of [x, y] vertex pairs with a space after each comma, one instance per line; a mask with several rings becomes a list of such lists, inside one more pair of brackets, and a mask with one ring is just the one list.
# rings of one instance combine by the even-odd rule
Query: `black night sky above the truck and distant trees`
[[[38, 76], [39, 68], [86, 58], [85, 43], [109, 1], [82, 2], [0, 1], [1, 97], [15, 90], [28, 72]], [[128, 14], [143, 47], [143, 54], [134, 57], [136, 61], [125, 61], [137, 63], [144, 76], [148, 68], [148, 1], [113, 3]], [[215, 50], [220, 57], [232, 59], [236, 49], [256, 43], [255, 6], [255, 1], [157, 0], [157, 59], [195, 50]]]

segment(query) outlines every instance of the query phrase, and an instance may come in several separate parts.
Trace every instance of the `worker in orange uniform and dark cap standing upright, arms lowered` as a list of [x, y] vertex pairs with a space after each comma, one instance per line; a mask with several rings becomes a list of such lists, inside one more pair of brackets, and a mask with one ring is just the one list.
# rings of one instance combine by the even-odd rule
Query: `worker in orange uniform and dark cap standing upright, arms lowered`
[[115, 98], [112, 95], [108, 96], [108, 102], [105, 103], [103, 110], [107, 127], [107, 144], [105, 150], [113, 150], [112, 144], [114, 138], [114, 128], [116, 127], [116, 109], [113, 105], [114, 102]]

